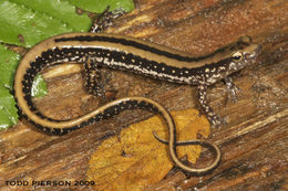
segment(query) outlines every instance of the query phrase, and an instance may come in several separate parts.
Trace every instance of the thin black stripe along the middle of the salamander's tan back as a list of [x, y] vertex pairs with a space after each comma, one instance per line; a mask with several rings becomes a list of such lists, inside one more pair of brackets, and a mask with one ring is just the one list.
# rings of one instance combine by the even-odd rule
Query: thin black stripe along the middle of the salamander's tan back
[[166, 51], [161, 51], [158, 49], [155, 49], [155, 47], [152, 47], [152, 46], [148, 46], [146, 44], [142, 44], [142, 43], [138, 43], [138, 42], [135, 42], [135, 41], [128, 41], [128, 40], [125, 40], [125, 39], [117, 39], [117, 38], [110, 38], [110, 36], [78, 35], [78, 36], [72, 36], [72, 38], [60, 38], [60, 39], [54, 40], [54, 42], [66, 42], [66, 41], [88, 41], [88, 42], [101, 41], [101, 42], [120, 43], [120, 44], [123, 44], [123, 45], [142, 49], [142, 50], [145, 50], [147, 52], [152, 52], [152, 53], [157, 54], [157, 55], [164, 55], [164, 56], [167, 56], [169, 59], [175, 59], [177, 61], [185, 61], [185, 62], [197, 62], [197, 61], [200, 61], [203, 59], [215, 55], [218, 52], [224, 51], [224, 50], [220, 49], [220, 50], [214, 52], [213, 54], [205, 55], [205, 56], [202, 56], [202, 57], [188, 57], [188, 56], [182, 56], [179, 54], [173, 54], [173, 53], [169, 53], [169, 52], [166, 52]]

